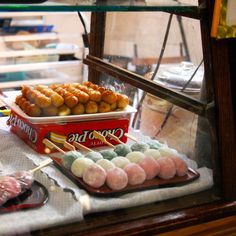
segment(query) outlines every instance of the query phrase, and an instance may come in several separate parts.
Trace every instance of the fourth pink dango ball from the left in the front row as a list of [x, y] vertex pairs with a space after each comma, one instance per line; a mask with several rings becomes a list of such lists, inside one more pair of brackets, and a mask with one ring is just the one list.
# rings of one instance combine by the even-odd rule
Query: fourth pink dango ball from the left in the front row
[[153, 157], [144, 157], [138, 165], [145, 171], [146, 179], [153, 179], [159, 174], [160, 165]]

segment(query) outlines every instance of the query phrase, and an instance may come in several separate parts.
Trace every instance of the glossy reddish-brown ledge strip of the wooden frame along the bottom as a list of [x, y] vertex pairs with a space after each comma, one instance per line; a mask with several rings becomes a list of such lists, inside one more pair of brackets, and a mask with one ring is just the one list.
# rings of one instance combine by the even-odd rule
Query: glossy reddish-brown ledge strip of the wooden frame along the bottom
[[93, 230], [86, 231], [86, 235], [158, 235], [159, 233], [169, 232], [173, 229], [231, 216], [235, 212], [235, 202], [203, 205], [156, 217], [152, 216], [132, 222], [124, 222], [109, 228], [99, 228], [96, 229], [96, 232]]

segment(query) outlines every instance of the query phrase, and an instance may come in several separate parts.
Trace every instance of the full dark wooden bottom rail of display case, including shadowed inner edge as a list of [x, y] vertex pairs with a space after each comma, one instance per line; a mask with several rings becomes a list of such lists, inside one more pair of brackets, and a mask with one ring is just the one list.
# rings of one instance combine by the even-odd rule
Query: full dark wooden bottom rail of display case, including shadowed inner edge
[[[203, 194], [204, 195], [204, 194]], [[207, 197], [207, 195], [204, 195]], [[208, 195], [209, 197], [210, 195]], [[154, 235], [174, 229], [192, 226], [215, 219], [235, 215], [236, 202], [215, 201], [176, 209], [175, 204], [185, 201], [189, 196], [117, 211], [99, 212], [85, 216], [81, 222], [65, 224], [45, 230], [32, 232], [39, 236], [61, 235]], [[206, 199], [207, 201], [207, 199]], [[189, 203], [188, 201], [186, 203]], [[184, 204], [184, 203], [182, 203]], [[193, 204], [193, 202], [192, 202]], [[162, 206], [160, 206], [162, 205]], [[167, 212], [158, 214], [160, 207]], [[168, 211], [169, 210], [169, 211]]]

